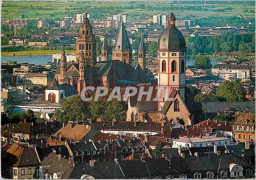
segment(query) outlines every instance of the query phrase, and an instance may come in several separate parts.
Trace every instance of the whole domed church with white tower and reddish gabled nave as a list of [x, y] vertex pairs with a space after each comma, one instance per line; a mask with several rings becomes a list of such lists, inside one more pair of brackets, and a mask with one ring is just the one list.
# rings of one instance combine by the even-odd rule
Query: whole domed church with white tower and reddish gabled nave
[[[175, 15], [170, 13], [167, 18], [168, 27], [158, 41], [157, 87], [161, 92], [157, 93], [157, 88], [153, 91], [158, 101], [137, 101], [137, 97], [129, 97], [126, 121], [164, 121], [183, 125], [193, 123], [191, 112], [194, 100], [191, 99], [190, 89], [185, 86], [186, 42], [176, 28], [175, 20]], [[143, 54], [140, 56], [143, 57]]]

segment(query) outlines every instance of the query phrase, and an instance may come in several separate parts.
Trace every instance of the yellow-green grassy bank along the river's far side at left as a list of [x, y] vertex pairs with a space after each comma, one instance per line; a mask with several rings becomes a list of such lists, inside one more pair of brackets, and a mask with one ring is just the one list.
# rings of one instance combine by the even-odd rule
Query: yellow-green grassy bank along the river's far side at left
[[[62, 50], [33, 50], [33, 51], [17, 51], [2, 52], [2, 56], [51, 56], [55, 53], [61, 53]], [[67, 54], [76, 53], [75, 50], [65, 50]]]

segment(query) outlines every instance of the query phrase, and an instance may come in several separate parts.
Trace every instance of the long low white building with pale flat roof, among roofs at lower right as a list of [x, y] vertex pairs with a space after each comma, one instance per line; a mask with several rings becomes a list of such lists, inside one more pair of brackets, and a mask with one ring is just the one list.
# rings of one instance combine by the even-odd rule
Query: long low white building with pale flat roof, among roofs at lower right
[[231, 139], [225, 137], [217, 137], [217, 136], [201, 136], [194, 138], [182, 138], [173, 140], [173, 148], [181, 147], [205, 147], [205, 146], [214, 146], [217, 144], [219, 146], [223, 146], [224, 144], [229, 145], [232, 142]]

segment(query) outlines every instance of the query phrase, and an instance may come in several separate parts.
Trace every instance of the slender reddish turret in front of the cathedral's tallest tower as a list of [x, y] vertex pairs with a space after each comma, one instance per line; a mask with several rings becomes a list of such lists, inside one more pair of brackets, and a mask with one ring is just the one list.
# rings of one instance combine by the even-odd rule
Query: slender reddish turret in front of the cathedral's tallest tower
[[81, 50], [78, 57], [78, 63], [79, 63], [79, 79], [77, 81], [77, 91], [78, 93], [82, 92], [82, 89], [86, 87], [86, 81], [85, 81], [85, 64], [84, 64], [84, 54]]

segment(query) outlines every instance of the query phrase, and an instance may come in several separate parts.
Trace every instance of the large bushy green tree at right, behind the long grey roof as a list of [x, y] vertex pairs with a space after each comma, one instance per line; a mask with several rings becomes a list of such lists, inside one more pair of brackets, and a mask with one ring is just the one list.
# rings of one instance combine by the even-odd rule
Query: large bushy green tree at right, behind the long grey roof
[[246, 91], [240, 82], [223, 81], [217, 89], [217, 95], [225, 97], [229, 102], [245, 101]]

